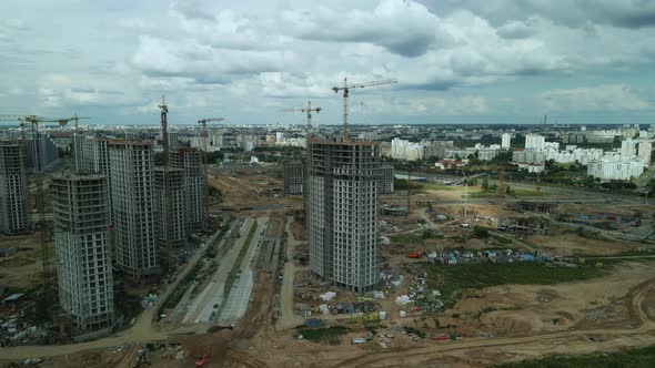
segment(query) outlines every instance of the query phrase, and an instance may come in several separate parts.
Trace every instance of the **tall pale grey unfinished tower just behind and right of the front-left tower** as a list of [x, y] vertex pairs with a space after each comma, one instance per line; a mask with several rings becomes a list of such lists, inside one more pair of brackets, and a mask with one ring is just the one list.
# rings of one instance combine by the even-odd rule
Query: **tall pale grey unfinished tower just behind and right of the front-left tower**
[[152, 142], [108, 143], [118, 265], [133, 279], [159, 273]]

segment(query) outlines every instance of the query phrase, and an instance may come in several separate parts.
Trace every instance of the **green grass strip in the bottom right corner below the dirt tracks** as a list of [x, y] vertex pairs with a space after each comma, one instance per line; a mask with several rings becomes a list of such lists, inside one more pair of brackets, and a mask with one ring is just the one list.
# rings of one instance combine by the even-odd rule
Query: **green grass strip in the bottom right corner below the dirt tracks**
[[555, 355], [543, 359], [530, 359], [507, 362], [496, 367], [503, 368], [577, 368], [577, 367], [655, 367], [655, 346], [628, 349], [609, 354], [590, 354], [582, 356]]

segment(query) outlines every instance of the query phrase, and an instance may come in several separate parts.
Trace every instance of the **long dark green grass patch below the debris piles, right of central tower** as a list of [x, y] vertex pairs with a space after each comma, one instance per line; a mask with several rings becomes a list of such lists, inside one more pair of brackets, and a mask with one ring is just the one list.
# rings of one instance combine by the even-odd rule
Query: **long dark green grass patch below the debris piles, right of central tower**
[[424, 265], [429, 286], [441, 292], [446, 307], [453, 306], [465, 289], [482, 289], [505, 284], [554, 285], [601, 277], [608, 274], [611, 269], [612, 267], [607, 265], [605, 267], [594, 267], [590, 264], [577, 267], [553, 267], [534, 262]]

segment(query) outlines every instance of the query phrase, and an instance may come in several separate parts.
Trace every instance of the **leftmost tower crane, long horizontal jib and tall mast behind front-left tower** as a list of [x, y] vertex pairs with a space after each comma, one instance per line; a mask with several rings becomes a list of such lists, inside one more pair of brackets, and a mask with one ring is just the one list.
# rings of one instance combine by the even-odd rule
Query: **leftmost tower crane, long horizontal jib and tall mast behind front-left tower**
[[[75, 116], [77, 117], [77, 116]], [[79, 117], [77, 117], [79, 119]], [[42, 123], [59, 123], [60, 126], [67, 125], [73, 117], [51, 119], [38, 115], [0, 115], [0, 121], [20, 122], [21, 127], [21, 144], [24, 152], [26, 142], [26, 125], [30, 124], [34, 137], [34, 185], [37, 187], [36, 205], [39, 212], [39, 221], [36, 223], [36, 228], [39, 229], [39, 238], [41, 245], [41, 262], [43, 267], [43, 296], [46, 305], [50, 305], [50, 255], [48, 253], [48, 229], [46, 226], [46, 209], [44, 209], [44, 188], [40, 175], [40, 144], [37, 139], [39, 134], [39, 125]], [[48, 308], [50, 311], [51, 309]]]

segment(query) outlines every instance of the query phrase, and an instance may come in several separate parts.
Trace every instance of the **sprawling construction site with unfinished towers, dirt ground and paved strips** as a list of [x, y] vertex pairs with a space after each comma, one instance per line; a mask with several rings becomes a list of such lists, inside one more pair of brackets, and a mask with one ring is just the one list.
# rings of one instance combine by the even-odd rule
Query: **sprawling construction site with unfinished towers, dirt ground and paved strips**
[[[334, 91], [347, 111], [349, 89], [389, 83]], [[305, 170], [212, 165], [169, 142], [159, 108], [163, 165], [152, 142], [110, 141], [108, 173], [73, 160], [24, 185], [39, 232], [0, 237], [1, 364], [490, 366], [655, 344], [647, 201], [394, 174], [346, 114], [314, 136], [311, 104]]]

